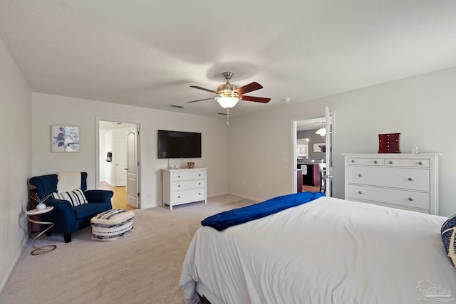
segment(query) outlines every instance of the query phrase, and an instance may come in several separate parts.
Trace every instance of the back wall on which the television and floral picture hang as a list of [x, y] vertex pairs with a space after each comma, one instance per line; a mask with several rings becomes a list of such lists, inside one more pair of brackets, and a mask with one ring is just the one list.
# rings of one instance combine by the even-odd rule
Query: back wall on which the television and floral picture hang
[[[94, 100], [32, 93], [33, 175], [58, 171], [88, 172], [88, 188], [95, 189], [95, 117], [105, 120], [141, 122], [141, 206], [162, 204], [161, 169], [167, 159], [157, 159], [157, 130], [202, 133], [202, 158], [196, 167], [208, 167], [207, 194], [227, 192], [227, 125], [219, 118], [186, 115]], [[81, 138], [78, 153], [51, 153], [50, 126], [78, 125]], [[182, 167], [187, 159], [170, 160]]]

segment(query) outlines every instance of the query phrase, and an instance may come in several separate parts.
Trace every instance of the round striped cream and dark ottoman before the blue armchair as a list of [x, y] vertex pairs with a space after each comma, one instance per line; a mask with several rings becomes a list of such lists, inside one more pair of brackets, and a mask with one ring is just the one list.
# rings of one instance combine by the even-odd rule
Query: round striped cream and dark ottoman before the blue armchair
[[90, 219], [92, 239], [97, 241], [114, 241], [128, 236], [133, 230], [135, 214], [132, 211], [111, 209]]

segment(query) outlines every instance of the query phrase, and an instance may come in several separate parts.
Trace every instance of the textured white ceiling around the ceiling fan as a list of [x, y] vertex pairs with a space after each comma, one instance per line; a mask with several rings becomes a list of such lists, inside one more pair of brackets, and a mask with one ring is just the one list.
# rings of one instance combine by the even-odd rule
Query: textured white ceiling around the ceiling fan
[[34, 92], [217, 117], [230, 70], [244, 115], [455, 66], [456, 1], [0, 0], [0, 36]]

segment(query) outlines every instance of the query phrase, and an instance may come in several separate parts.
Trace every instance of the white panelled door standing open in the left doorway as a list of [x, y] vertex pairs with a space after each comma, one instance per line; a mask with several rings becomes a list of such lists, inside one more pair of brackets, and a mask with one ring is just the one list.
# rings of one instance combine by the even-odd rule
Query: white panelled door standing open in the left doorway
[[138, 204], [138, 157], [137, 157], [138, 132], [128, 132], [127, 135], [127, 202], [130, 206], [139, 207]]

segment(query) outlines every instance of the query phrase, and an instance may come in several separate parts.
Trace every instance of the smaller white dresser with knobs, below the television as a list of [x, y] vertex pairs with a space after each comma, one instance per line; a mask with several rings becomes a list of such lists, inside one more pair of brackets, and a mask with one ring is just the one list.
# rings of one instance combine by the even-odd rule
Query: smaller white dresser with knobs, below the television
[[204, 201], [207, 203], [207, 168], [163, 171], [163, 204], [172, 206]]

